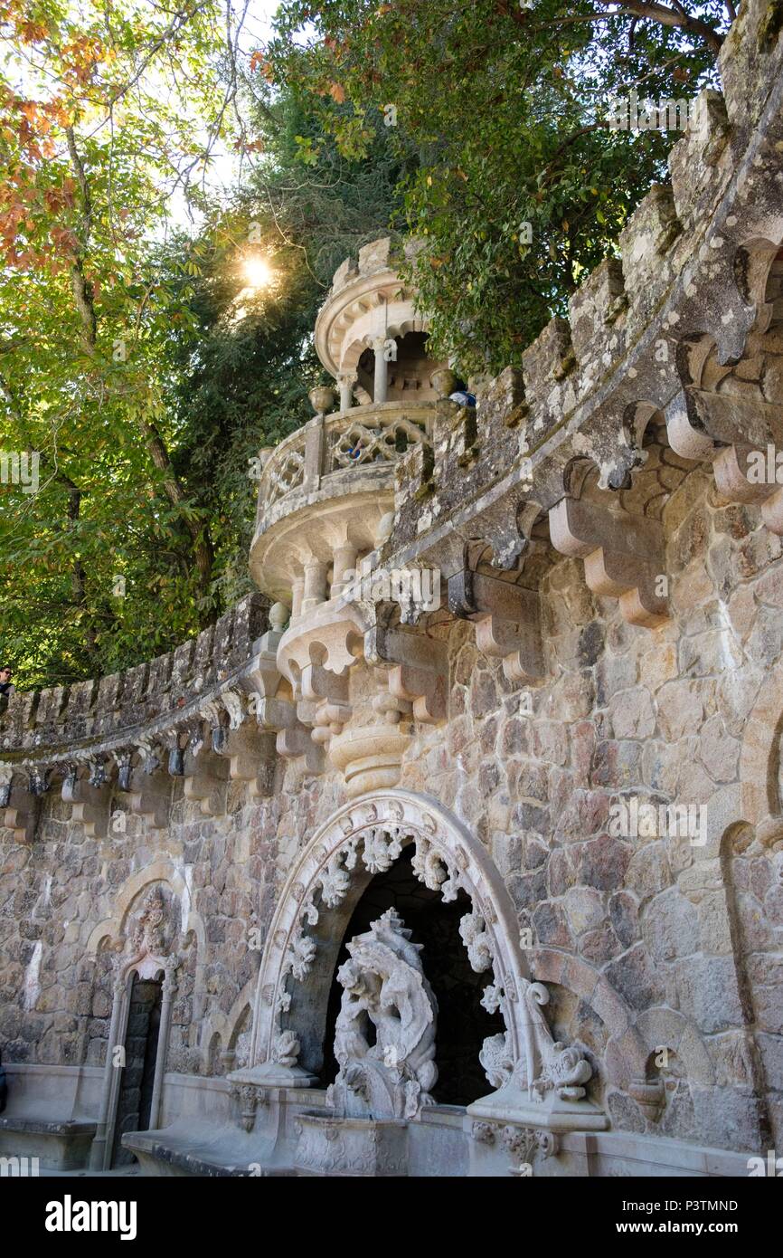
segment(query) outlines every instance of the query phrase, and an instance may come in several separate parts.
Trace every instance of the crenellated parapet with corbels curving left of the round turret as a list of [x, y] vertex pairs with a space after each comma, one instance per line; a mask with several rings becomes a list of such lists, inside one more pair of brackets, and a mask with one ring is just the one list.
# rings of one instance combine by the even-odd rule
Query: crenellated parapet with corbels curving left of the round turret
[[254, 594], [214, 626], [150, 664], [29, 694], [0, 716], [0, 828], [34, 838], [57, 791], [92, 838], [124, 814], [165, 829], [173, 781], [204, 815], [225, 811], [230, 782], [270, 794], [278, 755], [317, 749], [277, 668], [282, 621]]

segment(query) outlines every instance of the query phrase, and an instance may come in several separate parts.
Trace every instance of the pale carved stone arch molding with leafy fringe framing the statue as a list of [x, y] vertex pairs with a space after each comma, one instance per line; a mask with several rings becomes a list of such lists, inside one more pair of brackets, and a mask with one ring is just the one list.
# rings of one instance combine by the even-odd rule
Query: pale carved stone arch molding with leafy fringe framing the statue
[[[410, 843], [415, 845], [413, 872], [426, 887], [445, 902], [455, 899], [459, 891], [470, 898], [471, 911], [460, 922], [460, 936], [471, 967], [488, 974], [484, 1008], [500, 1010], [505, 1021], [505, 1033], [488, 1038], [480, 1053], [496, 1091], [474, 1102], [469, 1112], [554, 1130], [606, 1127], [605, 1115], [584, 1097], [589, 1064], [578, 1049], [553, 1042], [542, 1014], [549, 994], [529, 974], [517, 912], [500, 873], [483, 844], [454, 815], [431, 796], [405, 790], [380, 791], [344, 804], [299, 854], [261, 959], [250, 1064], [229, 1079], [260, 1088], [317, 1082], [299, 1057], [305, 1039], [312, 1040], [313, 1034], [323, 1038], [332, 970], [349, 917], [347, 906], [352, 907], [370, 878], [388, 869]], [[334, 915], [332, 925], [342, 923], [338, 931], [328, 930], [329, 915]], [[308, 999], [298, 999], [300, 985], [307, 984]]]

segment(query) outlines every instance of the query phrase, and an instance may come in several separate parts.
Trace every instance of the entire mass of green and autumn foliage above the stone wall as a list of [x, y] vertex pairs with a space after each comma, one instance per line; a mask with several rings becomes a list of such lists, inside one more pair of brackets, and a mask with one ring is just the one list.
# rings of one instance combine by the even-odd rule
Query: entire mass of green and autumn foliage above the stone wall
[[610, 131], [608, 98], [693, 97], [726, 25], [718, 0], [284, 0], [245, 64], [238, 23], [0, 0], [0, 450], [40, 458], [38, 493], [0, 483], [21, 687], [168, 650], [249, 589], [250, 460], [310, 414], [362, 244], [420, 239], [439, 357], [518, 362], [665, 176], [676, 133]]

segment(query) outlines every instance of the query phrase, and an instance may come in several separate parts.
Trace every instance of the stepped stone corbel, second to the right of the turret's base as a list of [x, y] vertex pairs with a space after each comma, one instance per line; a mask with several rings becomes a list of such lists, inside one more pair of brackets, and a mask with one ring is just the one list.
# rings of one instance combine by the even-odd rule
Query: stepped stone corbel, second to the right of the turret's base
[[535, 686], [543, 681], [539, 596], [509, 581], [463, 569], [449, 581], [449, 610], [473, 620], [476, 647], [500, 657], [512, 682]]

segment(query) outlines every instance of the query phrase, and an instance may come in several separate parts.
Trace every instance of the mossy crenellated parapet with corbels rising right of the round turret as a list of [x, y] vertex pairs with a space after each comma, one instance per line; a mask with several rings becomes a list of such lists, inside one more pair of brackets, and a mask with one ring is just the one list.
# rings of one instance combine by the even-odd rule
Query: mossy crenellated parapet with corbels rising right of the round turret
[[[518, 574], [537, 546], [584, 561], [588, 586], [633, 624], [666, 623], [661, 512], [700, 463], [726, 501], [783, 527], [760, 481], [783, 443], [783, 75], [768, 5], [743, 5], [670, 153], [671, 182], [628, 219], [606, 259], [522, 355], [440, 403], [432, 457], [397, 465], [390, 562], [439, 564], [466, 547]], [[529, 565], [528, 565], [529, 566]], [[534, 581], [533, 581], [534, 584]]]

